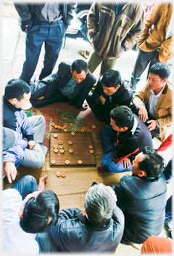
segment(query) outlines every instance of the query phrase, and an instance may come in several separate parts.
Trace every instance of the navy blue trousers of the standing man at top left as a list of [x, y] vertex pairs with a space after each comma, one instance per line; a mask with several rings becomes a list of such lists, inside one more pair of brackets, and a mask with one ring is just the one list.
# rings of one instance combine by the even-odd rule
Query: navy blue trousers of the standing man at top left
[[45, 43], [43, 68], [39, 80], [49, 76], [59, 57], [66, 28], [62, 20], [49, 25], [33, 18], [28, 25], [26, 37], [25, 63], [23, 64], [20, 79], [29, 82], [38, 63], [43, 42]]

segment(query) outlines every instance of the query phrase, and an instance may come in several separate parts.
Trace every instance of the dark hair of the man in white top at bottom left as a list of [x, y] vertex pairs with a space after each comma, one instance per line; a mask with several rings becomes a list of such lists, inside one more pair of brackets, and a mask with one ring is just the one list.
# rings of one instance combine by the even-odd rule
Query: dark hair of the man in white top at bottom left
[[58, 220], [59, 199], [45, 189], [36, 198], [31, 197], [23, 209], [20, 226], [27, 233], [40, 233], [54, 226]]

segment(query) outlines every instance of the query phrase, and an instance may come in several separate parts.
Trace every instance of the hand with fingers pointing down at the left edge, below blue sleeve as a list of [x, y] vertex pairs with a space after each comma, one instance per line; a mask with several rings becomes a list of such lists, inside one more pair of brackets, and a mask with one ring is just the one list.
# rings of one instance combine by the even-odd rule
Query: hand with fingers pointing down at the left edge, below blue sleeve
[[[12, 183], [12, 180], [15, 180], [17, 175], [17, 169], [13, 161], [5, 161], [3, 167], [3, 178], [7, 175], [9, 183]], [[12, 177], [12, 178], [11, 178]]]

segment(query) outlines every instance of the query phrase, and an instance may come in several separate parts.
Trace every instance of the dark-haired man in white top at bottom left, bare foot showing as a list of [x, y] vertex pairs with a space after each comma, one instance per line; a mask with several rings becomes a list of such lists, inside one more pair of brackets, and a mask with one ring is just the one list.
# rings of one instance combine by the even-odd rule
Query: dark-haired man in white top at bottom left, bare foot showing
[[53, 191], [45, 190], [47, 177], [41, 177], [37, 185], [36, 179], [27, 175], [1, 192], [4, 253], [38, 254], [36, 233], [47, 231], [57, 223], [59, 200]]

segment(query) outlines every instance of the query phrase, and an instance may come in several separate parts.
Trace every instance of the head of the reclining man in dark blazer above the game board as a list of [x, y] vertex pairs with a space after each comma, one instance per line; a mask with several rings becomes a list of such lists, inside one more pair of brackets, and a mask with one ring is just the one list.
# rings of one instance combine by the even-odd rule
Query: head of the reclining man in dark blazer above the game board
[[84, 60], [75, 60], [70, 67], [70, 71], [75, 83], [80, 84], [86, 79], [86, 75], [88, 73], [88, 64]]

